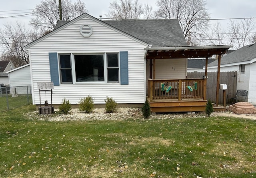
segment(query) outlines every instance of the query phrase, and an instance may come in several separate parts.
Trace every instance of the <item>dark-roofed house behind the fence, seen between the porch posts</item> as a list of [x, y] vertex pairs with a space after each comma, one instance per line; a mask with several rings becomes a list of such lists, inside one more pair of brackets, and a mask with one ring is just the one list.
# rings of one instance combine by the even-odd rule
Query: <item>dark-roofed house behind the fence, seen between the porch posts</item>
[[[208, 59], [208, 65], [212, 62], [214, 62], [215, 58], [209, 58]], [[188, 72], [204, 72], [205, 69], [204, 66], [206, 64], [206, 59], [188, 59]]]

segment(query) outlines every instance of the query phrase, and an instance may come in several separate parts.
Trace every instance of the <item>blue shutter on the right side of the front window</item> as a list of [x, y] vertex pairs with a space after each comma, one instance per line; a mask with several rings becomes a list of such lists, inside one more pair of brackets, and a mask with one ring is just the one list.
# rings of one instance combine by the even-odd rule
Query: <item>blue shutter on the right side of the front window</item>
[[120, 51], [120, 80], [121, 85], [128, 85], [128, 51]]

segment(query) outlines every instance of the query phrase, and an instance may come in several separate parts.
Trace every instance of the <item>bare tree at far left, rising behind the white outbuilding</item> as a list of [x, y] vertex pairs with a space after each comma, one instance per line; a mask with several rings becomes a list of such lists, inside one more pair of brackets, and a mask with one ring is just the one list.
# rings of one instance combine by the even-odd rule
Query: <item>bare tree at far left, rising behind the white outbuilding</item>
[[38, 34], [26, 29], [24, 25], [16, 22], [16, 26], [5, 24], [0, 29], [0, 44], [2, 47], [2, 59], [11, 60], [15, 67], [29, 63], [28, 51], [24, 46], [38, 38]]

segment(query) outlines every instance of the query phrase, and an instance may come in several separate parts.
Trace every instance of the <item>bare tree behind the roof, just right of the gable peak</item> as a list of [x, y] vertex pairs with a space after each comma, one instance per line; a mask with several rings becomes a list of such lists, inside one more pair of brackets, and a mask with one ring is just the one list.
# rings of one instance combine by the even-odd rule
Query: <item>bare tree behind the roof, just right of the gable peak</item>
[[112, 19], [139, 19], [144, 13], [142, 4], [138, 0], [119, 0], [117, 2], [110, 2], [110, 11], [106, 14], [107, 17]]

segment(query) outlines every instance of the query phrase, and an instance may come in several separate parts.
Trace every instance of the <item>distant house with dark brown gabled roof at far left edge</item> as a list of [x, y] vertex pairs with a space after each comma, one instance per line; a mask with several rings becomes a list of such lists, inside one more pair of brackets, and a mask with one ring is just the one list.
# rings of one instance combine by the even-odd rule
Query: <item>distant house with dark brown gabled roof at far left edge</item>
[[10, 60], [0, 60], [0, 84], [9, 84], [9, 78], [6, 72], [14, 68], [13, 63]]

